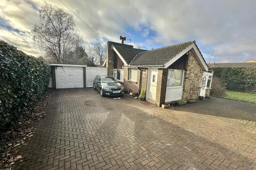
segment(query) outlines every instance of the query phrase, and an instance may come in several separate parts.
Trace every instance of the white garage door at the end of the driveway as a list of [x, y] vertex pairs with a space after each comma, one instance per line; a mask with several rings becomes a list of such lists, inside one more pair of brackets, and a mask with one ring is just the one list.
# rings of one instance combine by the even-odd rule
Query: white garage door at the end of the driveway
[[57, 67], [56, 88], [83, 88], [83, 67]]

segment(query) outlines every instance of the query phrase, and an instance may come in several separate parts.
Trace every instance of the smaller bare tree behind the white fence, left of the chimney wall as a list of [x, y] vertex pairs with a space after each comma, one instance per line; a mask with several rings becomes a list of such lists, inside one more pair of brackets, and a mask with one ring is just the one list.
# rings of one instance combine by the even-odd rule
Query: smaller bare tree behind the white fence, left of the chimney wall
[[106, 58], [106, 47], [101, 43], [97, 43], [88, 48], [89, 61], [95, 65], [102, 66]]

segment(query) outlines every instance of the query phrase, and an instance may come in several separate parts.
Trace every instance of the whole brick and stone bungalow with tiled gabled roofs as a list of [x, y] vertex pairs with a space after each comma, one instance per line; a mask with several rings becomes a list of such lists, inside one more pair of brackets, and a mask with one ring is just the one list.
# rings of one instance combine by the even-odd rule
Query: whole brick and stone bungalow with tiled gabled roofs
[[213, 73], [195, 41], [152, 50], [108, 41], [104, 65], [126, 90], [144, 89], [146, 100], [158, 106], [210, 95]]

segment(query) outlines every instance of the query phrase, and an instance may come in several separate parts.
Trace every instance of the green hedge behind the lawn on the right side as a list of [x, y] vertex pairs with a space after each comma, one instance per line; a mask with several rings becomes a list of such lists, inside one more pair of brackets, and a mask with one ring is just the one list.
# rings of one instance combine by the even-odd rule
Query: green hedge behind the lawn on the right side
[[228, 90], [256, 93], [256, 68], [214, 68], [213, 71]]

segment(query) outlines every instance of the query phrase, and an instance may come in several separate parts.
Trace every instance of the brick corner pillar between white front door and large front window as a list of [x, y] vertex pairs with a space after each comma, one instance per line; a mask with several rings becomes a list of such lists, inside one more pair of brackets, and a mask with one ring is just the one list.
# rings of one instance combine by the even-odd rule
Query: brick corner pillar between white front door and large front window
[[165, 102], [168, 69], [158, 69], [156, 87], [156, 105], [162, 106]]

